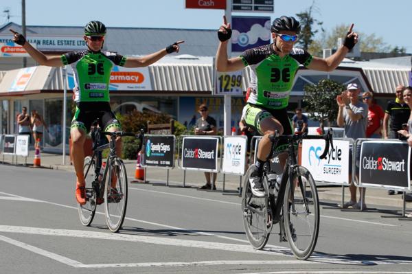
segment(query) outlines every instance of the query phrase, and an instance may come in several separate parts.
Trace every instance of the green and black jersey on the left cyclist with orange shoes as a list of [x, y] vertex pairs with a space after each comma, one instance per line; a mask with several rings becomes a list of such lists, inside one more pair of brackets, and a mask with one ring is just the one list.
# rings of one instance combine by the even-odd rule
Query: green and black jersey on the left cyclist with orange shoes
[[69, 52], [61, 56], [74, 71], [75, 102], [109, 102], [110, 73], [115, 65], [124, 66], [126, 57], [113, 52]]

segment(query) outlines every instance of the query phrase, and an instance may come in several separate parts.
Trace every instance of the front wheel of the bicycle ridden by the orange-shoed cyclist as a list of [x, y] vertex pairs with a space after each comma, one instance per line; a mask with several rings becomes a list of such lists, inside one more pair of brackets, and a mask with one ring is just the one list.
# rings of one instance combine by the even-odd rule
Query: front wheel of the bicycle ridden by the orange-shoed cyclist
[[122, 159], [110, 160], [104, 185], [104, 209], [108, 229], [113, 232], [122, 227], [127, 207], [127, 174]]

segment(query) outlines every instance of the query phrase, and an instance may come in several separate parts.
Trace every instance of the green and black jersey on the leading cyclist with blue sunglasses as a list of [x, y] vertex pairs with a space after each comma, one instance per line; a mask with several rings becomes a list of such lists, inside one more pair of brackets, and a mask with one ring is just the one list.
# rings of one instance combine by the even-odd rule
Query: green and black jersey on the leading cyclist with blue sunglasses
[[308, 67], [312, 55], [304, 49], [293, 48], [281, 58], [273, 44], [247, 49], [240, 55], [245, 66], [251, 68], [251, 94], [248, 103], [268, 109], [288, 106], [290, 89], [299, 65]]

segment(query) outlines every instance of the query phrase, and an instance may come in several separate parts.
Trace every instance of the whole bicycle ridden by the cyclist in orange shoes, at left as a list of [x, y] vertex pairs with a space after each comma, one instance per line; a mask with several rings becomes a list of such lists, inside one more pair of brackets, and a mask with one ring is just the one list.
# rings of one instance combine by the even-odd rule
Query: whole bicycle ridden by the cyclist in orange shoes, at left
[[[96, 125], [97, 123], [93, 123]], [[100, 146], [100, 136], [109, 135], [108, 144]], [[113, 232], [122, 227], [127, 207], [127, 174], [122, 159], [116, 155], [117, 137], [137, 137], [141, 150], [144, 142], [143, 130], [139, 134], [124, 133], [122, 131], [108, 132], [94, 127], [91, 137], [93, 139], [93, 155], [84, 159], [84, 181], [86, 182], [86, 204], [78, 204], [78, 213], [82, 225], [89, 226], [95, 216], [97, 205], [104, 203], [106, 224]], [[102, 150], [110, 148], [106, 159], [106, 165], [102, 163]], [[102, 166], [103, 165], [103, 166]], [[102, 168], [102, 174], [100, 174]]]

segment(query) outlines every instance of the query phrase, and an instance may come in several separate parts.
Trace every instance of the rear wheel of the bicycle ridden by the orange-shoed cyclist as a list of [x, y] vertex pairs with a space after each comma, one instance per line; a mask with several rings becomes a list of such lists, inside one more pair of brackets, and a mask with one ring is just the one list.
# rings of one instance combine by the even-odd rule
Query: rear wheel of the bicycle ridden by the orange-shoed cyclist
[[84, 181], [86, 182], [86, 204], [78, 204], [78, 212], [82, 225], [89, 226], [96, 212], [96, 192], [93, 188], [95, 180], [95, 161], [91, 157], [84, 159]]

